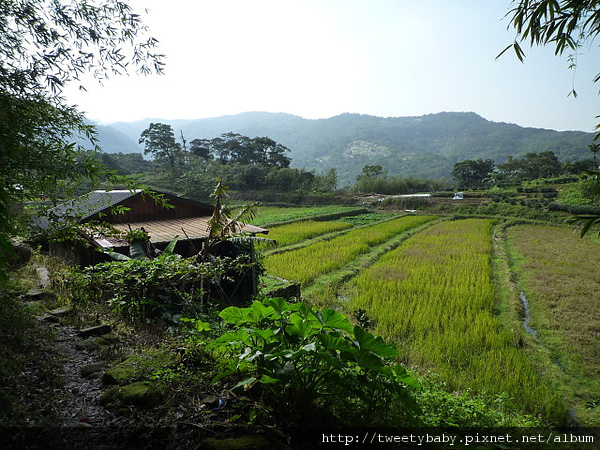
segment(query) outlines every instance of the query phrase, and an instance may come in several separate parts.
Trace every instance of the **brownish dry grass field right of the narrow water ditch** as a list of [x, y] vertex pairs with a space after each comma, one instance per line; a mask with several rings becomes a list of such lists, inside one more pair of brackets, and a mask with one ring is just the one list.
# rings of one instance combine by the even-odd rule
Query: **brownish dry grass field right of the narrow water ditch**
[[547, 350], [547, 376], [577, 416], [600, 425], [600, 244], [568, 228], [508, 231], [530, 326]]

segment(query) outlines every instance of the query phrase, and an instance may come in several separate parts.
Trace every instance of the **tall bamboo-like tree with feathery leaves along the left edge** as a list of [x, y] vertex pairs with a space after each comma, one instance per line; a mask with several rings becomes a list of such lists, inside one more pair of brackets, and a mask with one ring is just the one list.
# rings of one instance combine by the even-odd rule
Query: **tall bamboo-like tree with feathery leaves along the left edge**
[[146, 32], [122, 0], [0, 1], [0, 258], [12, 205], [51, 195], [59, 179], [106, 175], [75, 144], [77, 135], [93, 140], [94, 129], [61, 91], [84, 73], [161, 72]]

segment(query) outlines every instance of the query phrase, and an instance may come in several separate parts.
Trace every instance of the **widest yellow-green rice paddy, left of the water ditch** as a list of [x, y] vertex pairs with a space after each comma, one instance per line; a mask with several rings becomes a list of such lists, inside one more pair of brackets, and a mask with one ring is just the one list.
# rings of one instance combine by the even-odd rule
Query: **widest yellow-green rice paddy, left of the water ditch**
[[366, 310], [405, 362], [453, 389], [507, 392], [519, 407], [563, 418], [559, 396], [494, 317], [491, 226], [446, 221], [409, 238], [350, 282], [349, 306]]

